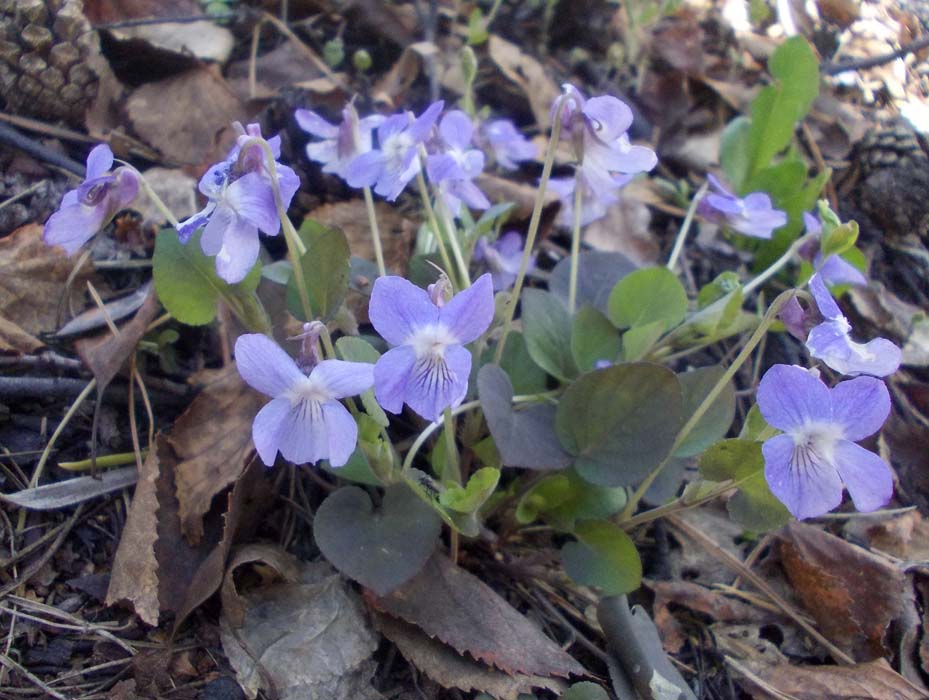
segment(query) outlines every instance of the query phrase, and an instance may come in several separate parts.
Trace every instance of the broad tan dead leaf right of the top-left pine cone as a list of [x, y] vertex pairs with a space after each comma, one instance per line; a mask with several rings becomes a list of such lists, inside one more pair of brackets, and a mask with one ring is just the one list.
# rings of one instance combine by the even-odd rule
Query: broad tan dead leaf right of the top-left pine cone
[[225, 157], [234, 139], [230, 125], [248, 114], [222, 76], [206, 65], [136, 89], [126, 112], [148, 145], [191, 166]]

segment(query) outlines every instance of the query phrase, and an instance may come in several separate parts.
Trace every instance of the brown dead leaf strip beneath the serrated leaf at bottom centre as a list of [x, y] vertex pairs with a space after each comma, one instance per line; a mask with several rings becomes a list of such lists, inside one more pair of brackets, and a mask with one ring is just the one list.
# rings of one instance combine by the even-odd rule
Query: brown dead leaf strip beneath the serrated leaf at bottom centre
[[535, 688], [545, 688], [559, 695], [566, 689], [564, 681], [555, 678], [508, 675], [484, 666], [431, 639], [415, 625], [389, 615], [375, 613], [374, 623], [387, 639], [397, 645], [407, 661], [443, 688], [489, 693], [499, 700], [517, 700], [520, 694], [531, 693]]

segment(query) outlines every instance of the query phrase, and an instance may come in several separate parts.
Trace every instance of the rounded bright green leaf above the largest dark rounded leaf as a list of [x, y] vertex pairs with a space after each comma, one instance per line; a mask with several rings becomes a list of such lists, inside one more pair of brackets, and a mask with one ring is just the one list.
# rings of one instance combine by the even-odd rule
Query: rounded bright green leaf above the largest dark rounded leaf
[[636, 270], [623, 277], [608, 302], [610, 320], [618, 328], [635, 328], [655, 321], [670, 330], [687, 313], [687, 292], [677, 276], [664, 267]]

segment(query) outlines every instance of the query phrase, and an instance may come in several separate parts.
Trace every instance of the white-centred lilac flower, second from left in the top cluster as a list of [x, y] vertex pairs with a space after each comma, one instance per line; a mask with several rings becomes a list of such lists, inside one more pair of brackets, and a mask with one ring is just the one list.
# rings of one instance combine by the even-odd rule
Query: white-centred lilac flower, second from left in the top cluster
[[434, 102], [419, 117], [411, 112], [387, 117], [377, 128], [378, 149], [362, 153], [348, 164], [345, 181], [352, 187], [371, 187], [389, 201], [420, 171], [419, 146], [429, 137], [445, 105]]

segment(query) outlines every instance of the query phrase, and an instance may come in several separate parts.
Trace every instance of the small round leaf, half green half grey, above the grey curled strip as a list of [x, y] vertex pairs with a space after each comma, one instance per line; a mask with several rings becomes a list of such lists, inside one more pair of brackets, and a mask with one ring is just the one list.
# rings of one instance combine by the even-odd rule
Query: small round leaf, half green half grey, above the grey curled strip
[[561, 548], [565, 571], [575, 583], [622, 595], [642, 582], [642, 560], [626, 532], [607, 520], [585, 520], [574, 531], [578, 542]]

